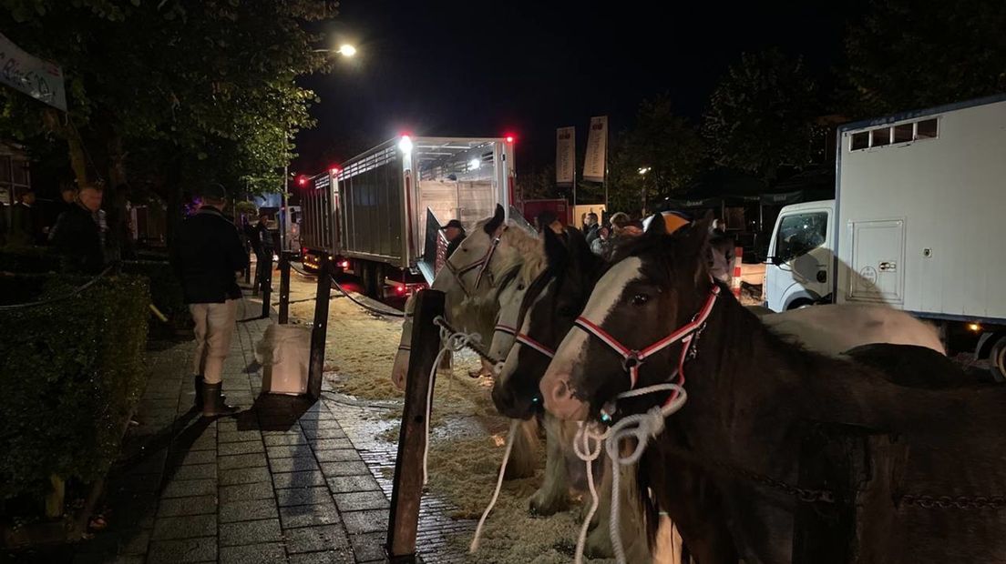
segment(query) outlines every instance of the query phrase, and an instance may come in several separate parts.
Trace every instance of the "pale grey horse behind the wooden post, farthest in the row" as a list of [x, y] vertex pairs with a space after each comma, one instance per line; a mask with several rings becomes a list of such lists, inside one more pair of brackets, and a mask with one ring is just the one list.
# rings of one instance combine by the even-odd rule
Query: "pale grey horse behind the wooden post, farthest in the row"
[[[444, 292], [444, 313], [449, 322], [459, 330], [479, 335], [486, 342], [493, 332], [502, 292], [517, 285], [518, 274], [525, 263], [540, 262], [540, 256], [537, 237], [517, 222], [505, 222], [503, 208], [497, 206], [493, 217], [480, 221], [447, 258], [431, 288]], [[414, 298], [409, 297], [391, 369], [391, 381], [399, 389], [405, 388], [414, 306]], [[538, 462], [537, 444], [537, 422], [527, 421], [516, 436], [507, 466], [509, 478], [534, 475]]]

